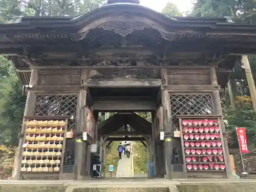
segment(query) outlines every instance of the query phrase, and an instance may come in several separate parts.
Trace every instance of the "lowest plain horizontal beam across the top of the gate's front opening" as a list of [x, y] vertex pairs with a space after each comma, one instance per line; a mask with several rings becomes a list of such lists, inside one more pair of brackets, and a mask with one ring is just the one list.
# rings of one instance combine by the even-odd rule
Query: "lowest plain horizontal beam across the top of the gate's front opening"
[[101, 112], [111, 111], [154, 111], [157, 106], [153, 101], [95, 101], [93, 109]]

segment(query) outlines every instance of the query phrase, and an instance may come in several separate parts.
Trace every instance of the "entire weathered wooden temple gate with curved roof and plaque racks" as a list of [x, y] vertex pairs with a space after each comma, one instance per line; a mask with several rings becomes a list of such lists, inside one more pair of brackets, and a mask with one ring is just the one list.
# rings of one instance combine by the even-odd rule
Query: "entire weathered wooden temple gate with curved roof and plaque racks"
[[[230, 178], [220, 97], [237, 55], [255, 53], [256, 27], [113, 2], [0, 26], [0, 52], [27, 94], [13, 179], [84, 179], [91, 145], [105, 165], [106, 141], [132, 135], [117, 133], [127, 124], [147, 141], [156, 177]], [[99, 112], [118, 113], [98, 125]]]

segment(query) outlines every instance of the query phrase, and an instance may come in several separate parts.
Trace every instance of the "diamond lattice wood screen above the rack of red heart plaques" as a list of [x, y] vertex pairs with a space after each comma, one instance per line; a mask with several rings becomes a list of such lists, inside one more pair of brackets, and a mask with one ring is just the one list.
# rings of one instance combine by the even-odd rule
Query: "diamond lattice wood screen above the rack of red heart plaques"
[[176, 115], [212, 115], [211, 95], [170, 95], [173, 126], [178, 128]]

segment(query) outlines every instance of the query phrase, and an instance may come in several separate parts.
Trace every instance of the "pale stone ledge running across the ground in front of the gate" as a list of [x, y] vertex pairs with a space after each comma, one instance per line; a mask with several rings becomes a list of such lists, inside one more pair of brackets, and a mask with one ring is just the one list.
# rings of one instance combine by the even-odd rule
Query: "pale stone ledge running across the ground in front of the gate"
[[[154, 181], [154, 180], [152, 180]], [[59, 184], [30, 183], [29, 185], [5, 185], [0, 186], [0, 192], [255, 192], [256, 182], [254, 183], [181, 183], [172, 184], [173, 181], [161, 182], [128, 182], [128, 183], [109, 183], [96, 184], [94, 182], [75, 183], [71, 182], [67, 186]], [[44, 183], [44, 181], [42, 181]]]

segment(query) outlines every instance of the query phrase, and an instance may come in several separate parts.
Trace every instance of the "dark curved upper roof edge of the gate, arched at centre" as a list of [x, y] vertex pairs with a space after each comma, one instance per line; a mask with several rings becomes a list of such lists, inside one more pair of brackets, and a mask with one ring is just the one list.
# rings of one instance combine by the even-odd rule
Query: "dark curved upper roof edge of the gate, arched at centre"
[[[137, 5], [137, 4], [113, 4], [102, 6], [98, 9], [95, 9], [87, 14], [78, 16], [78, 17], [45, 17], [40, 19], [39, 17], [29, 17], [26, 19], [21, 19], [20, 23], [15, 24], [1, 24], [0, 25], [0, 34], [2, 34], [3, 40], [11, 40], [10, 38], [15, 35], [24, 34], [24, 38], [29, 38], [33, 33], [40, 33], [41, 36], [45, 36], [45, 40], [53, 35], [62, 34], [65, 30], [65, 34], [75, 34], [78, 33], [78, 30], [88, 27], [88, 31], [95, 28], [93, 23], [108, 22], [109, 20], [120, 20], [122, 16], [129, 15], [131, 18], [134, 16], [137, 17], [137, 20], [143, 22], [148, 21], [148, 25], [152, 28], [156, 28], [162, 31], [172, 31], [172, 30], [193, 30], [193, 33], [203, 32], [208, 35], [214, 35], [215, 33], [224, 34], [238, 34], [238, 35], [255, 35], [256, 25], [248, 24], [233, 24], [225, 22], [226, 18], [200, 18], [200, 17], [167, 17], [162, 13], [155, 12], [146, 7]], [[119, 16], [116, 17], [116, 16]], [[112, 17], [112, 18], [111, 18]], [[114, 17], [114, 18], [113, 18]], [[104, 19], [102, 19], [104, 18]], [[146, 20], [143, 20], [146, 18]], [[126, 19], [126, 18], [125, 18]], [[124, 20], [125, 20], [124, 19]], [[102, 21], [104, 20], [104, 21]], [[132, 19], [133, 21], [136, 21]], [[120, 20], [121, 21], [121, 20]], [[155, 27], [156, 26], [156, 27]], [[7, 33], [8, 31], [8, 33]], [[49, 34], [51, 32], [51, 34]], [[8, 34], [8, 35], [7, 35]], [[39, 35], [39, 36], [40, 36]], [[7, 37], [8, 36], [8, 37]], [[14, 39], [13, 39], [14, 40]]]

